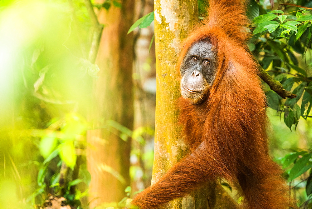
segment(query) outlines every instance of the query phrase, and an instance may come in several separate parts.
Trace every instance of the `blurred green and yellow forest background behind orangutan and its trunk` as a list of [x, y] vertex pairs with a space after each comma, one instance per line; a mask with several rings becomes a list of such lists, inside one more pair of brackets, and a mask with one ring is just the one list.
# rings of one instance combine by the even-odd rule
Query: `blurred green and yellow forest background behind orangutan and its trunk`
[[[204, 2], [198, 2], [201, 14]], [[249, 11], [258, 8], [252, 18], [271, 11], [271, 2], [251, 0]], [[274, 8], [298, 10], [279, 7], [283, 2], [273, 2]], [[311, 1], [287, 2], [312, 7]], [[0, 1], [0, 208], [120, 208], [150, 185], [156, 102], [153, 4]], [[303, 51], [288, 41], [292, 31], [270, 38], [264, 30], [249, 43], [262, 67], [283, 85], [304, 68], [306, 80], [294, 80], [291, 91], [304, 82], [305, 89], [311, 85], [310, 25], [305, 27], [308, 38], [297, 38]], [[272, 42], [285, 44], [287, 51], [279, 52], [283, 47]], [[270, 53], [288, 54], [289, 63], [301, 68], [284, 71], [288, 61], [275, 63], [278, 59], [265, 58]], [[299, 115], [290, 124], [285, 107], [290, 108], [287, 114], [296, 107], [263, 85], [272, 124], [271, 156], [289, 178], [296, 162], [311, 153], [311, 102], [304, 103], [310, 107], [306, 117]], [[310, 157], [289, 181], [298, 206], [311, 198]], [[285, 159], [291, 162], [285, 164]]]

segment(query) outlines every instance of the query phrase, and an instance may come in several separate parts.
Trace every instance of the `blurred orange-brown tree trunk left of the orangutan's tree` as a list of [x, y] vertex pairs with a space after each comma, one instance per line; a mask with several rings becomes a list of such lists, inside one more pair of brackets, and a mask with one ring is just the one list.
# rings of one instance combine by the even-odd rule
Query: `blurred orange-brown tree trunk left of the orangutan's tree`
[[[102, 8], [98, 14], [105, 27], [96, 60], [100, 72], [90, 112], [94, 129], [87, 133], [91, 208], [104, 202], [119, 202], [130, 185], [131, 139], [123, 141], [119, 131], [106, 126], [107, 120], [114, 120], [133, 129], [133, 38], [127, 31], [133, 24], [134, 1], [122, 0], [121, 4], [121, 8], [112, 6], [108, 12]], [[108, 171], [110, 168], [114, 171]]]

